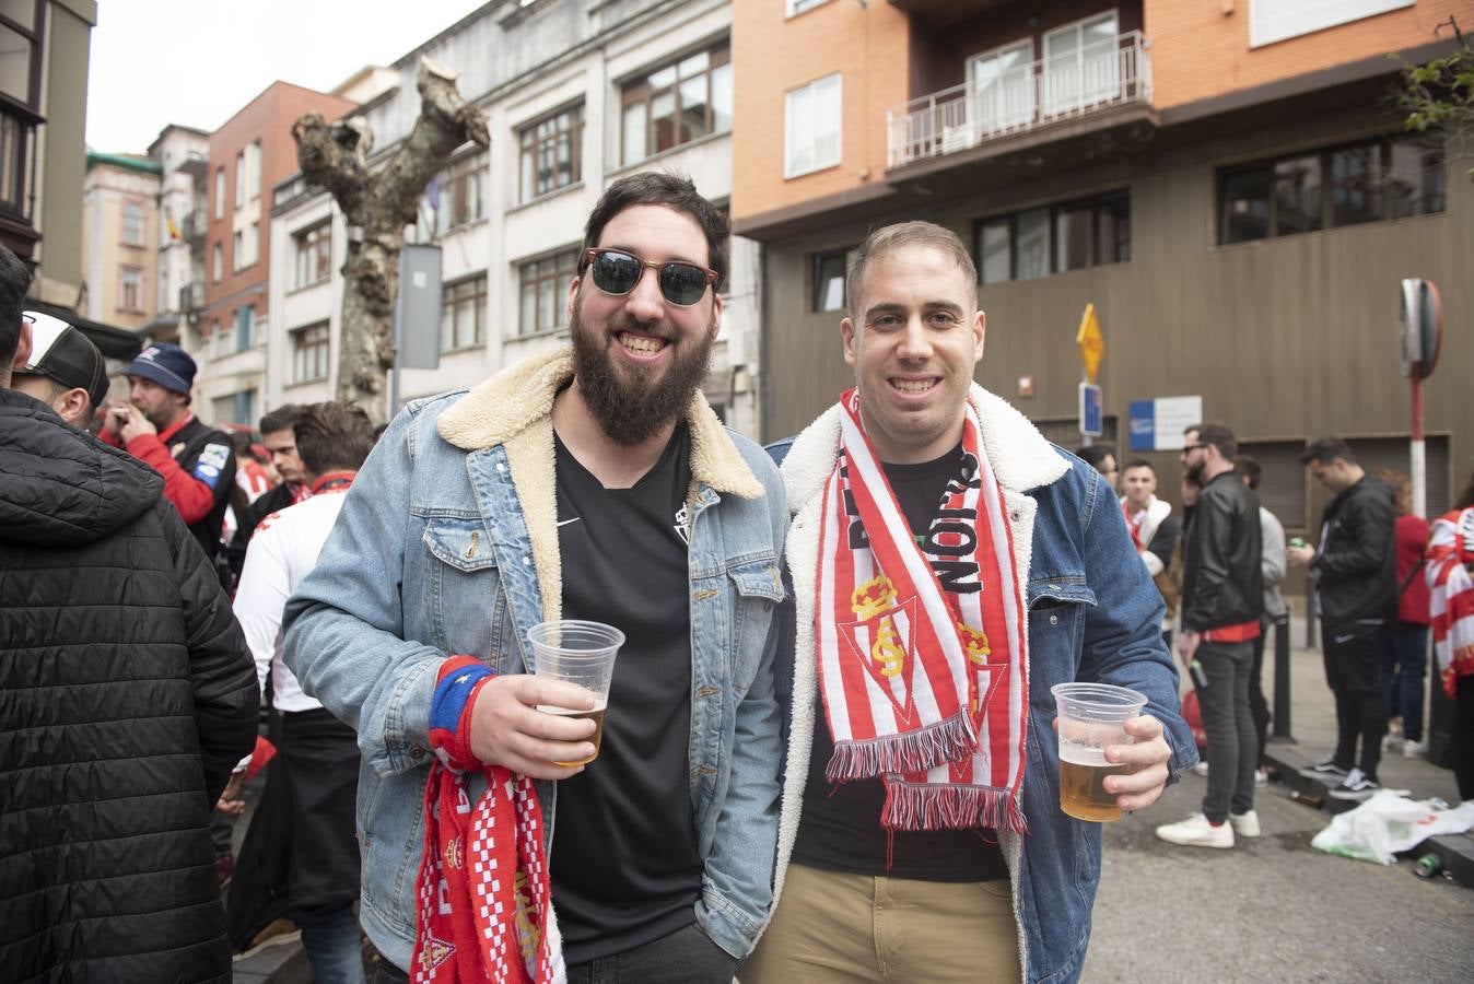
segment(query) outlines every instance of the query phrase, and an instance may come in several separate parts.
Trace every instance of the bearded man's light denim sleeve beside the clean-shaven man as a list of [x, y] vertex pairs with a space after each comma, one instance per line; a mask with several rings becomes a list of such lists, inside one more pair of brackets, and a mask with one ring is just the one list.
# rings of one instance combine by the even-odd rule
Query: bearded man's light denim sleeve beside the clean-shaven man
[[[777, 468], [769, 467], [764, 485], [768, 519], [772, 523], [774, 557], [783, 563], [787, 507]], [[774, 661], [778, 651], [781, 605], [774, 605], [762, 661], [747, 695], [737, 706], [737, 728], [731, 750], [731, 778], [722, 813], [716, 820], [716, 850], [706, 860], [706, 882], [697, 915], [702, 928], [727, 953], [744, 959], [772, 907], [772, 875], [778, 856], [778, 797], [783, 770], [783, 717], [778, 710]], [[736, 904], [752, 902], [752, 909]]]

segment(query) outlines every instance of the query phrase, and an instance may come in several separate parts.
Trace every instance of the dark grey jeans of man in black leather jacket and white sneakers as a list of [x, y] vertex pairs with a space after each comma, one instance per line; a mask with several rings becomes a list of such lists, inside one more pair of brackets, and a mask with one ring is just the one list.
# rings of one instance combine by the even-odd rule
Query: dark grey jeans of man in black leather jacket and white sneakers
[[1254, 809], [1254, 769], [1259, 747], [1248, 710], [1248, 675], [1254, 653], [1250, 642], [1203, 642], [1197, 658], [1207, 675], [1198, 688], [1203, 731], [1207, 732], [1207, 794], [1203, 815], [1222, 823], [1229, 813]]

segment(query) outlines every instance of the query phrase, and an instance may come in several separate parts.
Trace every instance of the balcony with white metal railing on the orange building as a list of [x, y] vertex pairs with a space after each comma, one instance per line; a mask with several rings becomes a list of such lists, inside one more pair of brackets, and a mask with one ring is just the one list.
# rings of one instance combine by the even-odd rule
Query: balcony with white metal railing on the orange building
[[[1026, 57], [1026, 56], [1024, 56]], [[889, 168], [991, 141], [1151, 106], [1151, 59], [1141, 31], [1026, 62], [1007, 50], [968, 66], [968, 80], [886, 113]]]

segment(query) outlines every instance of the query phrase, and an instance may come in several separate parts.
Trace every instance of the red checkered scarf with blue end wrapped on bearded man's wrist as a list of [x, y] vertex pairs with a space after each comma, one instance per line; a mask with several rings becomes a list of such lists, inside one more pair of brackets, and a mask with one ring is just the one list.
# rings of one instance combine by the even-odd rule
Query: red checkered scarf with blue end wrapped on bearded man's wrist
[[[532, 781], [470, 751], [470, 709], [492, 672], [469, 656], [441, 664], [430, 704], [436, 760], [425, 787], [425, 857], [416, 903], [416, 984], [565, 980], [553, 918], [542, 810]], [[486, 793], [473, 807], [467, 776]]]

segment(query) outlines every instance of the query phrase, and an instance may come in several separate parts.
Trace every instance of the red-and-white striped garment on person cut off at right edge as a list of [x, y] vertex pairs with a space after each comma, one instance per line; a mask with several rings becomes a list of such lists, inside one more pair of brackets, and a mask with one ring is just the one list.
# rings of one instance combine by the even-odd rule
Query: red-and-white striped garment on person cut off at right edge
[[1474, 507], [1434, 520], [1428, 536], [1428, 616], [1443, 691], [1458, 697], [1461, 676], [1474, 676]]

